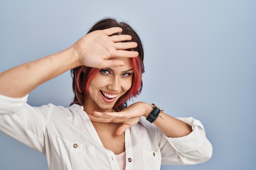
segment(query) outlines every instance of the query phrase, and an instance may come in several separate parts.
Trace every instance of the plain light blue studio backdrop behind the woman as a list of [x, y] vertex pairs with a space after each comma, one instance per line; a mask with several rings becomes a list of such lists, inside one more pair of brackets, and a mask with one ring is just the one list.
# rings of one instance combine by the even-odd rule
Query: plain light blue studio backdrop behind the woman
[[[107, 16], [128, 22], [144, 44], [143, 90], [134, 102], [199, 119], [213, 145], [205, 163], [161, 169], [255, 170], [255, 0], [0, 0], [0, 72], [71, 46]], [[66, 72], [28, 103], [72, 99]], [[0, 170], [48, 167], [43, 154], [0, 134]]]

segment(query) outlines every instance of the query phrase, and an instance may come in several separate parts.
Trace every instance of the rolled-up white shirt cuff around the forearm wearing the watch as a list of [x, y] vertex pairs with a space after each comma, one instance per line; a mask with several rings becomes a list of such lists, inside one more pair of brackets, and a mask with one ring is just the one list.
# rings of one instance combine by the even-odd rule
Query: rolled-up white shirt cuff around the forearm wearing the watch
[[171, 138], [164, 135], [177, 152], [192, 152], [201, 148], [206, 138], [204, 127], [199, 120], [193, 117], [177, 118], [192, 127], [192, 132], [184, 137]]

